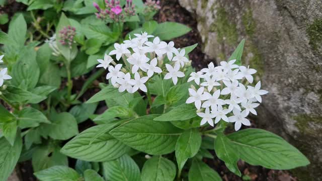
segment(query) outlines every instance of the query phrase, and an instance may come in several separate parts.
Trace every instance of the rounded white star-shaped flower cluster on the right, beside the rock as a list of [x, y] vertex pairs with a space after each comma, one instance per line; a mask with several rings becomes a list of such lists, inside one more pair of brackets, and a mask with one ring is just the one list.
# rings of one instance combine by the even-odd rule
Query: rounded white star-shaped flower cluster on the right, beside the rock
[[[189, 88], [191, 97], [186, 103], [194, 103], [198, 110], [205, 108], [205, 112], [197, 113], [202, 118], [200, 125], [208, 122], [214, 126], [213, 119], [215, 119], [215, 124], [223, 120], [235, 123], [234, 127], [237, 131], [242, 124], [251, 125], [246, 119], [250, 113], [257, 115], [254, 108], [262, 102], [261, 96], [268, 92], [261, 90], [261, 81], [255, 87], [247, 86], [248, 83], [253, 83], [252, 74], [257, 71], [249, 67], [238, 66], [234, 64], [235, 61], [222, 61], [220, 66], [216, 67], [211, 62], [208, 68], [190, 74], [188, 82], [194, 80], [200, 87], [197, 91]], [[200, 79], [203, 81], [200, 82]]]

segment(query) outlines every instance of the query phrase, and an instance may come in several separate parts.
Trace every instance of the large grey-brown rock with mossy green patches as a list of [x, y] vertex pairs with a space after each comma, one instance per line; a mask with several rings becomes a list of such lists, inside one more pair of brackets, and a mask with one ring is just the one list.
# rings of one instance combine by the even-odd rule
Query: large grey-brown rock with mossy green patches
[[286, 138], [310, 160], [293, 173], [322, 180], [322, 1], [179, 0], [196, 16], [204, 52], [226, 60], [246, 39], [243, 64], [270, 93], [256, 124]]

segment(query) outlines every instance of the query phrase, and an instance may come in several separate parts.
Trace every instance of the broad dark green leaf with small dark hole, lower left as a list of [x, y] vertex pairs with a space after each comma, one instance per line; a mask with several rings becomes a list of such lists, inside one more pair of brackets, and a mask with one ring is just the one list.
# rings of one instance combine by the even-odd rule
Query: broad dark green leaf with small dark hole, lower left
[[32, 167], [34, 171], [47, 169], [52, 166], [68, 166], [66, 155], [59, 152], [59, 147], [53, 145], [38, 146], [32, 154]]

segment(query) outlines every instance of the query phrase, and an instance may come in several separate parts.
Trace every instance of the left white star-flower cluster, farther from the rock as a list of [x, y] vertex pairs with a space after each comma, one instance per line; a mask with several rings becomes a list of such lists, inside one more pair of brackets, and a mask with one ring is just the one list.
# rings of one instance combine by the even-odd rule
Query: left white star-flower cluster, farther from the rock
[[[174, 42], [166, 43], [155, 37], [152, 42], [148, 38], [154, 36], [148, 35], [146, 32], [134, 34], [135, 38], [125, 40], [122, 44], [115, 43], [114, 48], [109, 55], [116, 55], [116, 60], [119, 61], [122, 57], [125, 67], [122, 64], [116, 64], [113, 58], [105, 55], [104, 59], [98, 59], [100, 63], [97, 67], [108, 68], [109, 73], [106, 79], [110, 79], [114, 87], [118, 87], [119, 92], [125, 90], [129, 93], [134, 93], [140, 89], [147, 92], [145, 83], [154, 73], [162, 73], [163, 69], [168, 72], [165, 79], [172, 78], [173, 83], [177, 84], [178, 77], [184, 77], [185, 74], [180, 71], [186, 62], [189, 62], [185, 57], [185, 50], [180, 52], [174, 47]], [[163, 66], [165, 58], [169, 59], [169, 63]], [[110, 65], [110, 64], [113, 65]], [[134, 78], [134, 79], [133, 79]]]

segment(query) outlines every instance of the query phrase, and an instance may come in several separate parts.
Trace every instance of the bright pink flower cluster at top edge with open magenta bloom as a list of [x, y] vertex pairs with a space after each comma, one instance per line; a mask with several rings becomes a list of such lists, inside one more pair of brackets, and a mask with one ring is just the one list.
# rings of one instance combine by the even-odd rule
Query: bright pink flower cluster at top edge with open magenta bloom
[[98, 13], [96, 17], [102, 20], [113, 20], [114, 22], [123, 22], [126, 16], [134, 16], [135, 10], [132, 0], [127, 0], [124, 8], [120, 6], [119, 0], [105, 0], [105, 10], [102, 10], [97, 3], [93, 3]]

